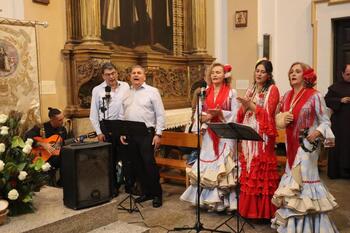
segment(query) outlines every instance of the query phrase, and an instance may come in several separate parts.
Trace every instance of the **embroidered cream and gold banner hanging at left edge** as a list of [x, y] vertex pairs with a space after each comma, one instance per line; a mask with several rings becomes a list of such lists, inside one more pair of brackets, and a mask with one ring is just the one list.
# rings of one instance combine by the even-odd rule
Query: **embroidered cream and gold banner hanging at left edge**
[[35, 112], [40, 119], [35, 24], [0, 18], [0, 113]]

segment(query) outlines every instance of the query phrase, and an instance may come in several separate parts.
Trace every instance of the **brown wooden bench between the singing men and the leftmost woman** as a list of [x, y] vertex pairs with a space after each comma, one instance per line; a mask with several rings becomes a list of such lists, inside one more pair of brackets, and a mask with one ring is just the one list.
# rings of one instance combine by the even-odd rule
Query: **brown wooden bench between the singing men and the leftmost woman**
[[[164, 131], [161, 140], [161, 146], [174, 146], [174, 147], [188, 147], [188, 148], [197, 148], [197, 134], [189, 134], [182, 132], [171, 132]], [[156, 163], [159, 167], [166, 167], [172, 169], [178, 169], [183, 174], [172, 174], [169, 172], [160, 172], [160, 177], [167, 180], [177, 180], [182, 181], [186, 184], [186, 187], [189, 184], [188, 177], [186, 174], [186, 160], [179, 158], [167, 158], [161, 157], [159, 151], [157, 151]]]

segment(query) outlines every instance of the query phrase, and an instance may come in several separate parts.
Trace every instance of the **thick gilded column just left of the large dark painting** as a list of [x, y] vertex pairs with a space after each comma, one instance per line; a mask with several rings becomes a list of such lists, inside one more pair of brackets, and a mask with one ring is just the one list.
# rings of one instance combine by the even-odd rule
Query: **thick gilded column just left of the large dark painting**
[[84, 44], [100, 44], [100, 0], [80, 0], [80, 7], [82, 42]]

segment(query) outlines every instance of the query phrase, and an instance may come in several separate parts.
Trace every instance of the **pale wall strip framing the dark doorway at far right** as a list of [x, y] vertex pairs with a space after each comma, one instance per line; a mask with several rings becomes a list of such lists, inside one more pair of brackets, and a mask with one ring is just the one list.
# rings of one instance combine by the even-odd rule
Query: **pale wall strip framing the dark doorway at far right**
[[316, 5], [317, 30], [317, 89], [326, 94], [333, 83], [333, 32], [332, 19], [349, 17], [350, 2], [337, 5], [319, 3]]

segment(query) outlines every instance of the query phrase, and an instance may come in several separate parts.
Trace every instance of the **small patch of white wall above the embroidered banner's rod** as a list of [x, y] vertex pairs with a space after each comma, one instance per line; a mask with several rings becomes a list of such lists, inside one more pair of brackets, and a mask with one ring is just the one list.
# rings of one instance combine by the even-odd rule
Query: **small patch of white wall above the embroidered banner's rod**
[[0, 0], [0, 17], [24, 19], [23, 0]]

